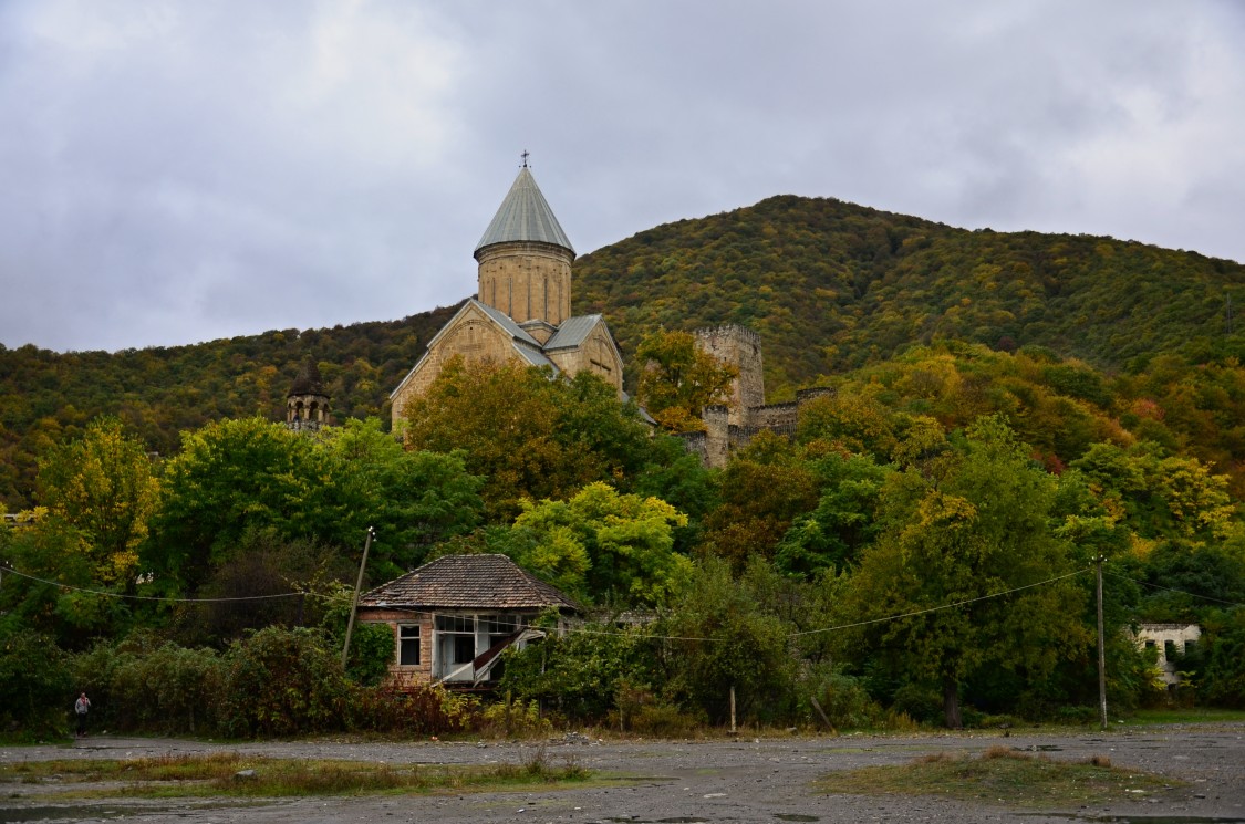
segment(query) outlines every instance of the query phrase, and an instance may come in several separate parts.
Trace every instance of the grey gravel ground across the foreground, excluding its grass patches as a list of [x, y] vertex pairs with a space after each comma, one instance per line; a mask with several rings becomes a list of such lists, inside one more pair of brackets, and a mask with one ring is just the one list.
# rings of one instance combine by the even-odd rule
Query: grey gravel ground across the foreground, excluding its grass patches
[[[965, 804], [929, 797], [823, 795], [812, 784], [839, 769], [906, 763], [925, 753], [975, 753], [1006, 744], [1052, 758], [1108, 756], [1113, 764], [1190, 782], [1177, 800], [1122, 798], [1108, 807], [1033, 812]], [[65, 805], [40, 798], [39, 788], [0, 788], [0, 822], [182, 822], [271, 824], [284, 822], [492, 822], [662, 823], [717, 822], [1149, 822], [1245, 823], [1245, 724], [1163, 726], [1109, 733], [743, 737], [713, 742], [605, 742], [568, 734], [535, 743], [357, 743], [334, 741], [215, 744], [151, 738], [87, 738], [71, 746], [0, 748], [0, 761], [125, 758], [167, 753], [237, 751], [278, 758], [342, 758], [411, 763], [523, 763], [539, 747], [559, 765], [565, 759], [624, 774], [618, 785], [553, 792], [441, 797], [304, 798], [274, 802], [182, 800]]]

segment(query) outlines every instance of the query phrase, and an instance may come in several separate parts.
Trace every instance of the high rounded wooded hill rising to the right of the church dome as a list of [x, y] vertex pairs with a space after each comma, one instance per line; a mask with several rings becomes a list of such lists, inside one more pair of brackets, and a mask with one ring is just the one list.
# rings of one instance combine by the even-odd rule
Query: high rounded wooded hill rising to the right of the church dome
[[967, 232], [776, 197], [642, 232], [576, 263], [576, 311], [624, 352], [647, 330], [743, 324], [771, 395], [937, 339], [1045, 346], [1099, 368], [1245, 353], [1245, 266], [1086, 235]]

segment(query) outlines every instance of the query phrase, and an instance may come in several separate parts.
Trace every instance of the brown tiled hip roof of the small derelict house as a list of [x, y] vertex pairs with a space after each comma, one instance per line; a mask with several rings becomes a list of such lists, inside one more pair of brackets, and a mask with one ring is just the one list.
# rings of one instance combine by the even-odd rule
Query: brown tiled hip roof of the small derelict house
[[408, 609], [579, 609], [505, 555], [444, 555], [359, 596], [360, 606]]

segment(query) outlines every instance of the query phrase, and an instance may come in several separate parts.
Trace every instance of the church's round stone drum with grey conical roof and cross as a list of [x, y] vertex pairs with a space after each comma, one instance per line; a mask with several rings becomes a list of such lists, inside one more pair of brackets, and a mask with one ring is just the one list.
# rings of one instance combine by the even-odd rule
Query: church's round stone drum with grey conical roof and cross
[[559, 326], [570, 317], [570, 264], [575, 250], [537, 187], [523, 153], [514, 179], [476, 245], [477, 299], [517, 324]]

